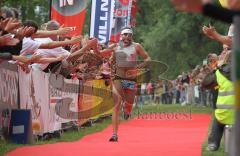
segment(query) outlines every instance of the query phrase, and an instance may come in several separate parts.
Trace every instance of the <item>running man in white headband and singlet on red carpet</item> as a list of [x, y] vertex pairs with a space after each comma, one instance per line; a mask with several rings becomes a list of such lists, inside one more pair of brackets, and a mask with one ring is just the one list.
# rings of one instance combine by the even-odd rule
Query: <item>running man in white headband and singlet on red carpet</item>
[[[144, 61], [136, 66], [138, 56]], [[121, 31], [121, 41], [116, 47], [114, 59], [116, 61], [116, 75], [113, 80], [115, 106], [112, 114], [113, 135], [109, 139], [112, 142], [118, 141], [117, 132], [121, 104], [125, 102], [125, 107], [132, 105], [136, 94], [136, 75], [129, 73], [129, 71], [134, 71], [133, 69], [136, 71], [136, 68], [141, 67], [146, 61], [150, 61], [151, 58], [141, 44], [133, 42], [133, 31], [131, 28], [126, 27]]]

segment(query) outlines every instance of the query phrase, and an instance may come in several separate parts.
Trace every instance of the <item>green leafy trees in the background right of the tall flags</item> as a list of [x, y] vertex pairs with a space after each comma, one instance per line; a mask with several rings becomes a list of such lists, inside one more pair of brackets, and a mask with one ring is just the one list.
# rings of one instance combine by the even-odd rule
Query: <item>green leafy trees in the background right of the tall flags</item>
[[152, 58], [169, 65], [164, 75], [167, 78], [193, 69], [210, 52], [221, 52], [221, 44], [205, 37], [201, 30], [211, 22], [225, 34], [226, 25], [202, 15], [177, 12], [166, 0], [141, 0], [138, 5], [135, 40], [143, 44]]

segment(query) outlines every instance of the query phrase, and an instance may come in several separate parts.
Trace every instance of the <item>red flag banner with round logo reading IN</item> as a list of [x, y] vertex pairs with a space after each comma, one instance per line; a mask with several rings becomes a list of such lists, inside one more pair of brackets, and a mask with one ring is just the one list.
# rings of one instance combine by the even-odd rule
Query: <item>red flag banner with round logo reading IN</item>
[[86, 15], [88, 0], [52, 0], [51, 19], [68, 27], [74, 27], [75, 31], [69, 36], [80, 35]]

